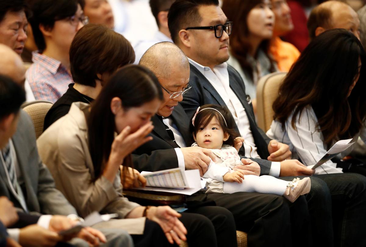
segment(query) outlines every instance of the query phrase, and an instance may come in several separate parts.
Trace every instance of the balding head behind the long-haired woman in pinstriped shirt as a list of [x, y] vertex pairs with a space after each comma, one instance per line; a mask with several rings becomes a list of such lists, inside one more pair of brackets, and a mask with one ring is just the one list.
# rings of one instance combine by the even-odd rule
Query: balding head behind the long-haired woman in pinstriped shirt
[[307, 28], [310, 39], [329, 29], [343, 28], [359, 39], [360, 21], [350, 5], [340, 1], [326, 1], [315, 7], [309, 16]]

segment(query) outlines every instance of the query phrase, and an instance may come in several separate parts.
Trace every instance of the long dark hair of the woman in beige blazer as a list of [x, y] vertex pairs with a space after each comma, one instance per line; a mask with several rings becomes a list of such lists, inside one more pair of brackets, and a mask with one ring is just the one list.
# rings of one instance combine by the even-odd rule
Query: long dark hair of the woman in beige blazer
[[[102, 88], [91, 104], [87, 117], [89, 151], [95, 180], [101, 176], [108, 162], [114, 140], [115, 115], [111, 111], [111, 100], [114, 97], [119, 97], [124, 110], [128, 110], [156, 98], [163, 100], [163, 93], [156, 76], [139, 65], [127, 65], [118, 70]], [[132, 166], [131, 156], [125, 158], [123, 166]]]

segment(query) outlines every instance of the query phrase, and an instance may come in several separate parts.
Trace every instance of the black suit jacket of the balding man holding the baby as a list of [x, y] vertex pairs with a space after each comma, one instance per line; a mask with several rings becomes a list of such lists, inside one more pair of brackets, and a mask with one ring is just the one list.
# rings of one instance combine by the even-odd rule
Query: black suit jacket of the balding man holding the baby
[[[174, 107], [170, 116], [182, 135], [187, 147], [193, 143], [193, 136], [189, 132], [189, 119], [180, 104]], [[158, 170], [172, 169], [178, 167], [178, 158], [174, 148], [179, 146], [171, 140], [163, 122], [155, 115], [151, 118], [154, 129], [150, 133], [153, 137], [132, 153], [134, 168], [139, 172], [154, 172]]]

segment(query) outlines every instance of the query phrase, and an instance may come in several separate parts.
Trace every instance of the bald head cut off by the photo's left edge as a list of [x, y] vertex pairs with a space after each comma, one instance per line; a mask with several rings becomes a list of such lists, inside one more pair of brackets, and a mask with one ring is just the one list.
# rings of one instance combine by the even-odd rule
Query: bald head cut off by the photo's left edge
[[24, 86], [25, 67], [22, 59], [10, 47], [3, 44], [0, 44], [0, 74]]

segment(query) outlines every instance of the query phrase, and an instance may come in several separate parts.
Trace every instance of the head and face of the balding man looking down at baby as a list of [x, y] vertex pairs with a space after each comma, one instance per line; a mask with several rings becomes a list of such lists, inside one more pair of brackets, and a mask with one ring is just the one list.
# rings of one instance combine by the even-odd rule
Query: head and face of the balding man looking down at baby
[[178, 102], [183, 100], [182, 92], [188, 87], [190, 70], [187, 56], [175, 44], [161, 42], [150, 47], [139, 64], [153, 71], [159, 79], [164, 101], [157, 114], [169, 117]]

